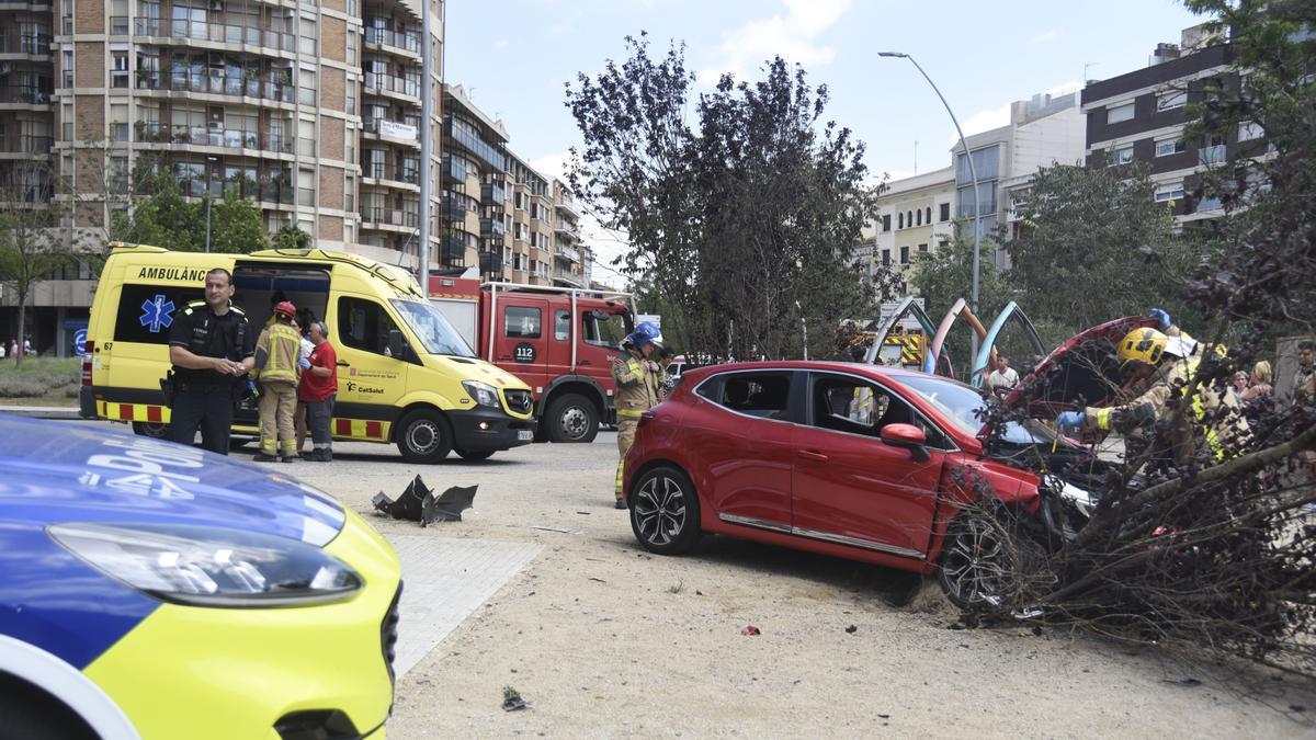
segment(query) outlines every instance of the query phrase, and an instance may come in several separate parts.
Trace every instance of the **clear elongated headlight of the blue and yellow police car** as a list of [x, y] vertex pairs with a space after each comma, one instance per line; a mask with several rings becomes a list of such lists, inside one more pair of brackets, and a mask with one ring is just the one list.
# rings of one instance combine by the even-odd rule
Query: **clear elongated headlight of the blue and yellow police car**
[[87, 565], [166, 602], [303, 606], [362, 587], [338, 558], [274, 535], [170, 524], [57, 524], [47, 532]]

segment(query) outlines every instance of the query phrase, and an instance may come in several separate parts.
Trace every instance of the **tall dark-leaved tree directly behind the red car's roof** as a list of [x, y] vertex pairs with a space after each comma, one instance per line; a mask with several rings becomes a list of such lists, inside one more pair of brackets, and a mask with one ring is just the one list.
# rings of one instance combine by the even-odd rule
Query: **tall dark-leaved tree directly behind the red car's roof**
[[691, 105], [683, 47], [661, 61], [644, 37], [626, 47], [567, 88], [584, 138], [569, 178], [626, 234], [620, 269], [654, 286], [690, 349], [799, 356], [805, 321], [817, 352], [841, 319], [875, 313], [854, 267], [875, 194], [863, 145], [822, 121], [826, 87], [776, 58], [763, 79], [722, 76]]

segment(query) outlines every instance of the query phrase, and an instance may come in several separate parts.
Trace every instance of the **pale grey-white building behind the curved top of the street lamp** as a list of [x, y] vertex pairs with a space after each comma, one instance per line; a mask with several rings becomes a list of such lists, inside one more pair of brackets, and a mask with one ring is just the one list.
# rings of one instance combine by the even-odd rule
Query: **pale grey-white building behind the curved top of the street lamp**
[[[976, 228], [982, 238], [995, 237], [1004, 226], [1005, 240], [1019, 236], [1020, 215], [1012, 208], [1026, 199], [1029, 184], [1040, 167], [1080, 165], [1084, 155], [1084, 119], [1079, 93], [1034, 95], [1009, 105], [1009, 122], [966, 137], [978, 174], [978, 213], [974, 215], [974, 187], [969, 155], [959, 142], [951, 149], [955, 169], [957, 219], [965, 219], [966, 236]], [[998, 248], [998, 267], [1009, 267], [1009, 254]]]

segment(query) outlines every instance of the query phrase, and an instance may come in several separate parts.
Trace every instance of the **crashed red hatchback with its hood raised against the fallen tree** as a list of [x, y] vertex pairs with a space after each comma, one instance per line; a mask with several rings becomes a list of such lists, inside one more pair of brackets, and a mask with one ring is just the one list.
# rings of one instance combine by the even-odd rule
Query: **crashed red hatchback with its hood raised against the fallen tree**
[[[1130, 321], [1138, 320], [1066, 342], [1012, 402], [1046, 417], [1107, 402], [1117, 387], [1108, 350]], [[1105, 463], [1037, 421], [1011, 421], [988, 438], [988, 403], [996, 402], [958, 381], [876, 365], [688, 370], [641, 417], [626, 457], [632, 529], [655, 553], [729, 535], [937, 573], [957, 604], [995, 603], [1016, 557], [983, 510], [965, 504], [986, 483], [992, 506], [1042, 536], [1073, 536]], [[1066, 479], [1042, 470], [1066, 470]]]

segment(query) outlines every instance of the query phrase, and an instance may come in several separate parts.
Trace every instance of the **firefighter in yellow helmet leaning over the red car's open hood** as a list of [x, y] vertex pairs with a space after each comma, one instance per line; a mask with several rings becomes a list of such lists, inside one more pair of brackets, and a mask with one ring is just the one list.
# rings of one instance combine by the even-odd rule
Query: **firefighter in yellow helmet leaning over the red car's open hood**
[[1055, 425], [1137, 436], [1170, 411], [1170, 402], [1182, 390], [1190, 413], [1182, 415], [1179, 424], [1162, 440], [1170, 457], [1182, 465], [1204, 444], [1213, 460], [1224, 460], [1230, 444], [1248, 432], [1248, 423], [1230, 394], [1194, 382], [1202, 362], [1202, 344], [1187, 334], [1174, 334], [1150, 328], [1125, 334], [1116, 356], [1124, 375], [1140, 381], [1141, 395], [1123, 406], [1066, 411], [1055, 419]]

